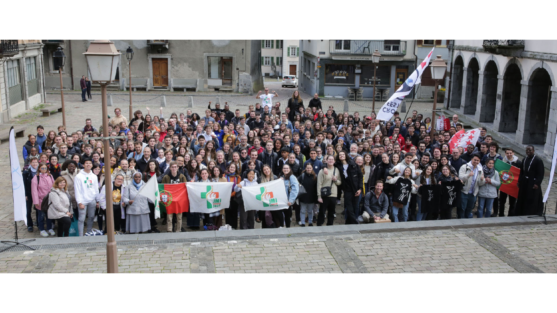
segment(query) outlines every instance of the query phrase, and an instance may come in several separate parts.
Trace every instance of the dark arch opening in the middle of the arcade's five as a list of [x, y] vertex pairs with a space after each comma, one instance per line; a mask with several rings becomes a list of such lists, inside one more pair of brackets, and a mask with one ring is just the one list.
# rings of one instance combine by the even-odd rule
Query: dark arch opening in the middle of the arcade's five
[[477, 105], [477, 119], [480, 123], [492, 122], [495, 120], [495, 107], [497, 102], [497, 84], [499, 80], [499, 69], [494, 60], [489, 60], [480, 75], [480, 84], [478, 92], [481, 90], [480, 98]]

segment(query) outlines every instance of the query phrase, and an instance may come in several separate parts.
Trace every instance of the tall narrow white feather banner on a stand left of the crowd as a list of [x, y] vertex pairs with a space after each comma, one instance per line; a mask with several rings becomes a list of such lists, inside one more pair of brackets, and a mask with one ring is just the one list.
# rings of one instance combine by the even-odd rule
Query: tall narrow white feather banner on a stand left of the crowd
[[19, 156], [17, 155], [13, 126], [9, 130], [9, 164], [12, 170], [13, 219], [16, 222], [23, 221], [27, 225], [25, 187], [23, 186], [21, 167], [19, 167]]

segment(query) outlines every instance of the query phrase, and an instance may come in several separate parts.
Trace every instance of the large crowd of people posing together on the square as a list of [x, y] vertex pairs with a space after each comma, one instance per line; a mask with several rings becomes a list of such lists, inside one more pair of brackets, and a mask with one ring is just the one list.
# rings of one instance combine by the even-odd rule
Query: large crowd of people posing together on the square
[[[273, 103], [273, 96], [268, 88], [260, 91], [247, 111], [209, 102], [203, 116], [188, 109], [166, 118], [162, 108], [151, 115], [147, 107], [146, 115], [137, 110], [128, 121], [116, 107], [108, 133], [125, 138], [111, 139], [109, 151], [89, 139], [102, 134], [89, 118], [76, 130], [45, 132], [38, 125], [22, 148], [28, 231], [37, 226], [48, 237], [56, 228], [57, 236], [68, 236], [77, 217], [80, 236], [94, 234], [95, 223], [106, 232], [105, 175], [113, 184], [114, 226], [121, 233], [160, 232], [159, 224], [167, 232], [224, 224], [290, 227], [294, 221], [333, 225], [343, 195], [346, 224], [450, 219], [453, 213], [472, 218], [476, 203], [478, 218], [541, 212], [544, 166], [534, 146], [519, 160], [483, 128], [476, 144], [451, 149], [449, 140], [463, 128], [457, 115], [450, 129], [436, 131], [417, 111], [404, 121], [398, 112], [380, 121], [375, 113], [323, 108], [317, 94], [307, 106], [298, 91], [285, 105]], [[105, 154], [110, 164], [104, 164]], [[521, 169], [518, 199], [497, 189], [502, 178], [496, 159]], [[208, 214], [183, 208], [155, 219], [154, 204], [138, 194], [153, 175], [163, 184], [233, 182], [230, 206]], [[289, 208], [245, 211], [242, 187], [275, 179], [284, 180]]]

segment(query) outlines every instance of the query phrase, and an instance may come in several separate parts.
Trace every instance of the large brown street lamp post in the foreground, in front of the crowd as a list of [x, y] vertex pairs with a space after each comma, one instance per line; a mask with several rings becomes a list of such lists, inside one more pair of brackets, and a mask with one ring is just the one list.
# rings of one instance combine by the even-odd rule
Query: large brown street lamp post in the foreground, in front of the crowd
[[104, 168], [105, 168], [105, 192], [106, 192], [106, 269], [109, 273], [118, 273], [118, 256], [116, 255], [116, 240], [114, 238], [114, 212], [112, 208], [112, 182], [110, 177], [110, 154], [108, 133], [108, 107], [106, 101], [106, 85], [110, 84], [116, 76], [118, 67], [118, 56], [114, 42], [109, 40], [91, 41], [87, 52], [83, 53], [87, 61], [87, 68], [91, 81], [101, 85], [102, 101], [102, 141], [104, 143]]

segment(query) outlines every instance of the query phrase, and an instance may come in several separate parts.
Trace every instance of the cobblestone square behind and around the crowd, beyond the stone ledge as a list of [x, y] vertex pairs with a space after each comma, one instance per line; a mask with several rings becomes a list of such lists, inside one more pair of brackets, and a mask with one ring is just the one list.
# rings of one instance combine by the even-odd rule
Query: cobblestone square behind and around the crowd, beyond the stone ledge
[[[292, 95], [294, 89], [292, 88], [283, 88], [280, 86], [280, 82], [277, 84], [270, 84], [266, 82], [266, 85], [270, 86], [271, 90], [276, 90], [280, 95], [278, 98], [283, 99], [289, 95]], [[122, 113], [124, 116], [128, 116], [128, 105], [129, 102], [127, 99], [129, 97], [124, 95], [123, 92], [119, 92], [118, 97], [124, 100], [120, 100], [118, 98], [114, 99], [114, 105], [119, 106], [122, 109]], [[167, 92], [168, 94], [168, 92]], [[177, 94], [191, 94], [191, 92], [178, 92]], [[198, 93], [199, 94], [199, 93]], [[208, 101], [213, 101], [213, 104], [216, 102], [216, 95], [221, 95], [222, 99], [229, 100], [229, 104], [231, 110], [234, 111], [236, 108], [242, 110], [242, 112], [247, 111], [247, 105], [255, 104], [256, 99], [255, 96], [250, 95], [241, 95], [241, 94], [218, 94], [216, 92], [212, 92], [214, 95], [208, 96], [194, 96], [194, 106], [192, 108], [193, 111], [197, 111], [198, 113], [202, 113], [204, 109], [206, 109]], [[153, 94], [151, 92], [138, 92], [138, 94], [133, 95], [134, 101], [144, 101], [153, 99], [157, 97], [159, 94]], [[306, 95], [302, 93], [302, 97], [304, 101], [307, 103], [311, 98], [310, 95]], [[65, 95], [65, 103], [66, 103], [66, 125], [69, 131], [74, 131], [77, 129], [83, 128], [85, 125], [85, 119], [91, 118], [92, 124], [98, 128], [101, 125], [101, 104], [100, 104], [100, 95], [93, 95], [93, 101], [81, 102], [81, 94], [66, 94]], [[164, 116], [170, 116], [172, 112], [185, 112], [187, 107], [185, 107], [185, 97], [182, 96], [167, 96], [167, 106], [163, 107], [163, 114]], [[60, 101], [60, 95], [57, 94], [47, 94], [47, 101], [52, 103], [57, 103]], [[328, 107], [329, 104], [334, 105], [336, 111], [342, 111], [344, 106], [343, 100], [322, 100], [324, 107]], [[357, 102], [349, 102], [349, 110], [352, 113], [354, 110], [359, 110], [360, 113], [366, 114], [371, 112], [371, 102], [372, 101], [357, 101]], [[376, 101], [375, 105], [380, 106], [383, 102]], [[282, 101], [282, 108], [286, 106], [286, 101]], [[134, 110], [142, 110], [144, 114], [146, 113], [146, 107], [149, 106], [151, 109], [152, 115], [158, 115], [159, 113], [159, 105], [160, 105], [160, 97], [151, 101], [139, 102], [138, 104], [134, 104]], [[407, 104], [410, 105], [409, 103]], [[109, 107], [109, 114], [113, 113], [114, 108]], [[408, 107], [409, 110], [416, 109], [418, 113], [422, 113], [424, 115], [429, 115], [431, 113], [432, 103], [431, 102], [414, 102], [412, 105], [412, 109]], [[18, 118], [13, 119], [14, 125], [27, 125], [28, 129], [26, 131], [27, 134], [36, 134], [36, 126], [43, 125], [45, 128], [45, 133], [48, 130], [56, 130], [59, 125], [62, 124], [62, 114], [61, 113], [53, 113], [51, 116], [43, 117], [42, 113], [38, 110], [31, 110], [27, 111], [27, 113], [18, 116]], [[9, 128], [10, 124], [2, 124], [0, 128]], [[25, 144], [27, 137], [25, 138], [16, 138], [16, 145], [18, 147], [19, 154], [21, 155], [21, 147]], [[497, 141], [497, 138], [495, 137]], [[10, 186], [10, 176], [9, 176], [9, 154], [8, 154], [8, 144], [4, 142], [4, 144], [0, 145], [0, 155], [4, 156], [0, 158], [0, 238], [13, 238], [13, 200], [12, 200], [12, 192], [9, 189]], [[21, 164], [22, 160], [20, 160]], [[546, 177], [548, 177], [548, 171], [546, 171]], [[547, 187], [547, 179], [544, 180], [541, 187], [545, 190]], [[557, 202], [557, 190], [554, 188], [550, 192], [549, 195], [549, 212], [555, 212], [555, 204]], [[507, 206], [508, 207], [508, 206]], [[344, 224], [344, 216], [341, 213], [343, 211], [343, 206], [336, 206], [336, 218], [334, 221], [335, 225]], [[456, 210], [453, 210], [456, 211]], [[456, 217], [456, 212], [453, 212], [453, 217]], [[35, 214], [33, 214], [33, 219], [35, 219]], [[160, 220], [159, 220], [160, 221]], [[27, 228], [23, 225], [22, 222], [19, 222], [18, 227], [18, 234], [20, 238], [40, 238], [40, 233], [38, 232], [37, 227], [34, 228], [34, 232], [30, 233], [27, 232]], [[185, 223], [184, 223], [185, 224]], [[95, 223], [95, 228], [97, 225]], [[292, 222], [292, 227], [299, 227], [295, 222]], [[163, 229], [165, 227], [160, 227], [159, 229]], [[261, 228], [261, 223], [256, 223], [256, 228]], [[187, 229], [189, 231], [189, 229]], [[164, 231], [163, 231], [164, 232]]]

